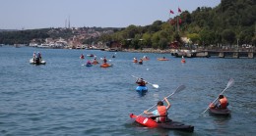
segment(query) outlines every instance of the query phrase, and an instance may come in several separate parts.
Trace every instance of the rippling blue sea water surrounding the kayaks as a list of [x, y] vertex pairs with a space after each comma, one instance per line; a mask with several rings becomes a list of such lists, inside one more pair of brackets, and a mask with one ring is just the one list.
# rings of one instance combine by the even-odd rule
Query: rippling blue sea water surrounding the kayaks
[[[30, 65], [40, 52], [45, 66]], [[83, 66], [81, 54], [110, 59], [112, 68]], [[116, 58], [111, 58], [115, 55]], [[144, 65], [132, 63], [147, 55]], [[157, 58], [170, 59], [160, 62]], [[91, 50], [0, 47], [0, 135], [189, 135], [250, 136], [256, 130], [256, 60], [193, 58], [180, 63], [170, 54], [103, 52]], [[141, 97], [136, 75], [159, 84]], [[224, 90], [230, 117], [201, 114]], [[186, 89], [169, 98], [169, 117], [195, 126], [193, 133], [141, 127], [129, 113], [151, 108], [178, 86]], [[156, 109], [156, 108], [154, 108]]]

